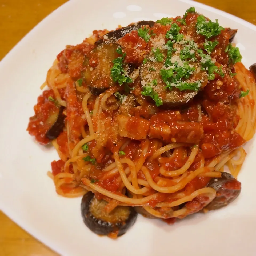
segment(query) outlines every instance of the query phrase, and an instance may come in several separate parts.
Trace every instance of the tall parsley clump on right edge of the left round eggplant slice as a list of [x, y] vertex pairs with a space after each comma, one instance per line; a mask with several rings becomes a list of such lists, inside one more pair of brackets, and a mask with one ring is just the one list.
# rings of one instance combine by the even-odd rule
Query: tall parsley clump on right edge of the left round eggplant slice
[[132, 83], [133, 80], [130, 77], [126, 77], [123, 72], [125, 71], [122, 67], [123, 60], [125, 58], [126, 53], [123, 54], [121, 47], [115, 50], [118, 54], [121, 54], [121, 57], [114, 59], [112, 62], [114, 63], [113, 67], [111, 68], [111, 77], [113, 78], [114, 82], [118, 82], [119, 85], [123, 83]]

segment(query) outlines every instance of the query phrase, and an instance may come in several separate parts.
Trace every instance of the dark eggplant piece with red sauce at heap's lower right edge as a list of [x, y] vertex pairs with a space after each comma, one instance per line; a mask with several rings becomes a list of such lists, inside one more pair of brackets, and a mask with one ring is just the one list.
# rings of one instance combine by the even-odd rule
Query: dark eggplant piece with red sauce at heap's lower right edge
[[208, 210], [219, 209], [234, 201], [241, 191], [241, 183], [231, 174], [223, 172], [221, 178], [212, 178], [207, 187], [216, 190], [216, 197], [206, 206]]

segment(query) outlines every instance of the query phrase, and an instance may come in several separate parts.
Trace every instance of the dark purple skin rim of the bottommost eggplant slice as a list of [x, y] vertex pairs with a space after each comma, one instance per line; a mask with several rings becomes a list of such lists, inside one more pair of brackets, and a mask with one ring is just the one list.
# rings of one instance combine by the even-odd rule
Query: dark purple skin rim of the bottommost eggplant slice
[[137, 219], [137, 212], [133, 207], [127, 206], [130, 211], [128, 218], [125, 222], [111, 223], [103, 219], [96, 218], [90, 212], [90, 203], [94, 199], [94, 194], [89, 191], [86, 193], [81, 202], [81, 214], [85, 225], [97, 235], [108, 235], [111, 232], [118, 231], [118, 237], [125, 234], [126, 231], [133, 226]]

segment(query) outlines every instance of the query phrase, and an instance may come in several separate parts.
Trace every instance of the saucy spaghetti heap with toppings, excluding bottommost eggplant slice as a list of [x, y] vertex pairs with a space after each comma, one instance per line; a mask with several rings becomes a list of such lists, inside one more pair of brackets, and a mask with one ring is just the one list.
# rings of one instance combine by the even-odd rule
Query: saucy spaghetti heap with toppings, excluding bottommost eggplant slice
[[[234, 30], [213, 23], [192, 7], [95, 30], [58, 54], [27, 130], [43, 145], [57, 134], [61, 160], [48, 173], [59, 195], [90, 190], [108, 213], [139, 206], [171, 223], [220, 206], [211, 184], [224, 166], [235, 178], [241, 169], [256, 129], [256, 84], [229, 42]], [[233, 178], [224, 191], [227, 183], [240, 191]]]

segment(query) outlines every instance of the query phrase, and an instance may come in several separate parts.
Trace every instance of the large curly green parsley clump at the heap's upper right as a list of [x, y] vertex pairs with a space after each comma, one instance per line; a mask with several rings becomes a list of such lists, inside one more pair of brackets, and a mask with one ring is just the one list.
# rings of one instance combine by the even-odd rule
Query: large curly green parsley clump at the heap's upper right
[[212, 22], [207, 21], [203, 15], [197, 17], [197, 34], [204, 35], [206, 38], [214, 37], [221, 33], [224, 28], [219, 25], [218, 20]]

